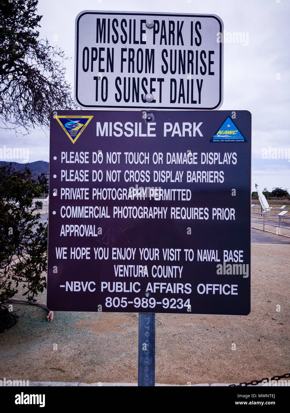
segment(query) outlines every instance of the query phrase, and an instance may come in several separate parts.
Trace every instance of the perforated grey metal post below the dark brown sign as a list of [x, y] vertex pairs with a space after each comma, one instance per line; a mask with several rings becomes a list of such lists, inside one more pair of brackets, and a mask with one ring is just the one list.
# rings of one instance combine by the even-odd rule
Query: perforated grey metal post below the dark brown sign
[[139, 313], [138, 386], [155, 386], [155, 313]]

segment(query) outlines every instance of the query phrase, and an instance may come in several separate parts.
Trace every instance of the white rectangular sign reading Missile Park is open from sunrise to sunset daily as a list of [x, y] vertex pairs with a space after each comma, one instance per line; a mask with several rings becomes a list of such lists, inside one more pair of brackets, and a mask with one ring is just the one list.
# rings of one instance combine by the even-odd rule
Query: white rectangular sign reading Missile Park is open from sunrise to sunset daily
[[75, 28], [83, 108], [218, 109], [223, 22], [210, 14], [84, 11]]

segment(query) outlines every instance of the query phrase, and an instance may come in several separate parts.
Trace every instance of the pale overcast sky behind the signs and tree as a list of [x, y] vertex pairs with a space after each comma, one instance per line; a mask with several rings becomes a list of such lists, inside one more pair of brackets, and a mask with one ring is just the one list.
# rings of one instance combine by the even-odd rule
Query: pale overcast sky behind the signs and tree
[[[224, 97], [220, 110], [252, 113], [252, 190], [290, 186], [290, 93], [288, 0], [39, 0], [40, 33], [72, 57], [65, 63], [74, 83], [74, 24], [82, 10], [217, 14], [226, 33], [243, 43], [224, 43]], [[280, 79], [280, 80], [279, 80]], [[49, 131], [26, 136], [0, 132], [0, 148], [29, 148], [29, 162], [49, 159]], [[289, 148], [288, 159], [263, 159], [263, 149]], [[264, 150], [265, 152], [265, 150]], [[16, 159], [16, 161], [19, 161]], [[21, 160], [20, 160], [21, 161]]]

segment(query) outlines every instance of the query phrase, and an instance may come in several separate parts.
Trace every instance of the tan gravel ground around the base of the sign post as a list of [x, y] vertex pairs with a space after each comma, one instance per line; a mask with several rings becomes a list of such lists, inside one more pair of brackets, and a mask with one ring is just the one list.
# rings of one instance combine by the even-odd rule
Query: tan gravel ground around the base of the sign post
[[[288, 373], [289, 253], [289, 245], [252, 245], [249, 316], [156, 314], [156, 382], [234, 383]], [[57, 312], [49, 323], [40, 307], [14, 310], [18, 323], [0, 335], [0, 379], [137, 382], [137, 313]]]

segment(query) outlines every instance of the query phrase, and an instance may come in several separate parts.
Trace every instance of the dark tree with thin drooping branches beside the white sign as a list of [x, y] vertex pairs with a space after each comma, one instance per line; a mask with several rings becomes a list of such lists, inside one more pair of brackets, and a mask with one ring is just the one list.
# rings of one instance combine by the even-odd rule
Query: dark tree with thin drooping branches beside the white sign
[[67, 57], [38, 39], [37, 4], [0, 0], [0, 119], [6, 129], [48, 126], [52, 110], [76, 108], [65, 80]]

